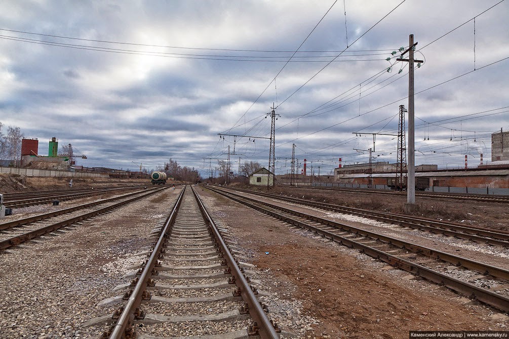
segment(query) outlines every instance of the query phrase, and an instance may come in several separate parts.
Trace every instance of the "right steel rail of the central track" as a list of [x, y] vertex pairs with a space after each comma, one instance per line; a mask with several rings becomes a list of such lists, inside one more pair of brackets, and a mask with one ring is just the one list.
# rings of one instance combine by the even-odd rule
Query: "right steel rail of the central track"
[[[209, 212], [205, 208], [205, 205], [203, 204], [202, 200], [192, 187], [191, 190], [192, 193], [194, 194], [194, 197], [196, 198], [196, 201], [200, 206], [200, 210], [202, 211], [202, 215], [207, 225], [213, 232], [213, 235], [216, 241], [218, 242], [219, 247], [221, 248], [224, 257], [223, 259], [226, 260], [228, 267], [231, 268], [232, 271], [231, 274], [235, 278], [236, 285], [240, 288], [242, 298], [249, 305], [249, 315], [258, 323], [260, 337], [262, 339], [278, 339], [279, 334], [277, 334], [277, 332], [275, 331], [274, 326], [272, 325], [269, 318], [265, 314], [263, 307], [261, 306], [257, 297], [254, 295], [251, 287], [244, 278], [244, 274], [242, 274], [240, 267], [235, 262], [235, 258], [232, 256], [230, 250], [228, 249], [227, 244], [222, 239], [222, 236], [217, 230], [217, 227], [212, 218], [210, 217]], [[254, 312], [251, 313], [251, 310], [253, 310]]]

